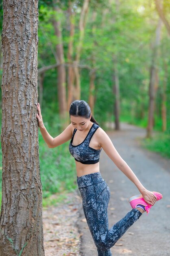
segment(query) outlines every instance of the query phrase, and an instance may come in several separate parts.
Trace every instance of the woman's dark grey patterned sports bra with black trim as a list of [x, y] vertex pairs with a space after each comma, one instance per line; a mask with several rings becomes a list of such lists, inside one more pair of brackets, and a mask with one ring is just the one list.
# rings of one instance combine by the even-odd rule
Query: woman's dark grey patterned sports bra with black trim
[[82, 164], [96, 164], [97, 162], [99, 162], [100, 152], [102, 149], [96, 150], [89, 146], [90, 140], [92, 139], [94, 132], [96, 132], [99, 127], [100, 126], [94, 123], [83, 142], [76, 146], [72, 145], [72, 141], [77, 130], [74, 129], [72, 139], [69, 144], [69, 151], [77, 162], [81, 162]]

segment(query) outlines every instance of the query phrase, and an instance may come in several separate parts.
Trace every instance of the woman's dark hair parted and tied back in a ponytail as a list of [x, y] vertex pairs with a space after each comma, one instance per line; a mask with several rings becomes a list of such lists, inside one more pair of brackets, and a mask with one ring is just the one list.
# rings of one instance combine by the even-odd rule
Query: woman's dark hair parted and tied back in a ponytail
[[[73, 101], [70, 105], [69, 115], [74, 117], [85, 117], [89, 119], [91, 114], [91, 109], [86, 101]], [[97, 121], [92, 116], [90, 121], [98, 124]]]

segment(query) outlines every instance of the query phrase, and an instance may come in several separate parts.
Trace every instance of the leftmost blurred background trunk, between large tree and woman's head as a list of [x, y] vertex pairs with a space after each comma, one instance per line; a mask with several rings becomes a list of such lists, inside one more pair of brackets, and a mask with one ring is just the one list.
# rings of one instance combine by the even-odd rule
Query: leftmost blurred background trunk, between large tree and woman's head
[[62, 41], [62, 33], [61, 33], [61, 22], [57, 17], [57, 13], [59, 13], [59, 8], [54, 7], [54, 10], [55, 10], [55, 14], [53, 17], [53, 25], [54, 25], [55, 35], [57, 36], [56, 53], [57, 53], [57, 59], [59, 60], [59, 65], [57, 66], [59, 114], [61, 118], [65, 120], [66, 111], [67, 111], [66, 88], [65, 88], [66, 74], [65, 74], [65, 66], [64, 66], [65, 61], [64, 61], [63, 41]]

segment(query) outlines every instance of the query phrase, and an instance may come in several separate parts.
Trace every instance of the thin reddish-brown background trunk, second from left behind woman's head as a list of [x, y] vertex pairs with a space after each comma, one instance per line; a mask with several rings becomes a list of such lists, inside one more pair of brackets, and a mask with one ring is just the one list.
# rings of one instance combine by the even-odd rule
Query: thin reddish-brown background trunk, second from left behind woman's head
[[[70, 40], [68, 43], [68, 62], [73, 62], [73, 38], [74, 38], [74, 14], [72, 13], [72, 2], [69, 1], [68, 13], [70, 17]], [[72, 66], [68, 67], [68, 111], [70, 109], [70, 104], [73, 100], [73, 83], [74, 83], [74, 68]]]

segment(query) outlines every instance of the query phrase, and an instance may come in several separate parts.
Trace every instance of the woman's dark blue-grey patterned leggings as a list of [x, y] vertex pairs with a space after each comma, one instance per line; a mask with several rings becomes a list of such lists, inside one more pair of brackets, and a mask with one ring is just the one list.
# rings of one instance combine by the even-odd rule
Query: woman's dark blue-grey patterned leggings
[[107, 207], [110, 190], [100, 172], [77, 177], [78, 189], [83, 198], [83, 211], [98, 256], [111, 256], [110, 248], [142, 215], [137, 209], [132, 209], [109, 229]]

